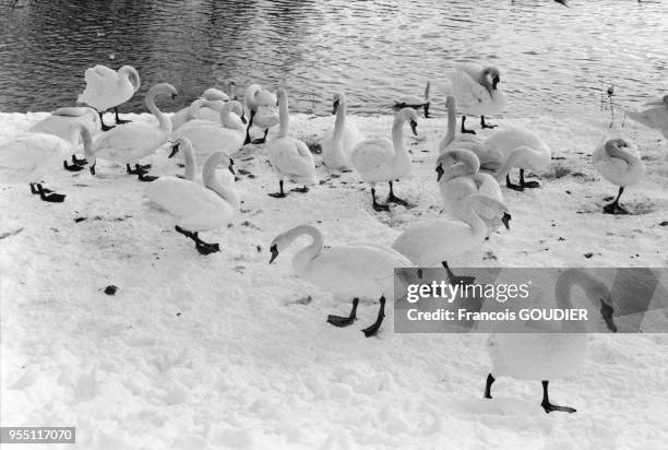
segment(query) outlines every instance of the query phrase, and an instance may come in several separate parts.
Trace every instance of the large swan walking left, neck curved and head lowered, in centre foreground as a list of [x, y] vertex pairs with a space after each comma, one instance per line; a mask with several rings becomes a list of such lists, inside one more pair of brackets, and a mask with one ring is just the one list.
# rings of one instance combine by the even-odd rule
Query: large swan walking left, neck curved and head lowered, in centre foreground
[[278, 254], [300, 236], [311, 237], [311, 244], [293, 257], [293, 270], [299, 277], [329, 291], [337, 297], [353, 298], [348, 317], [330, 315], [327, 322], [347, 327], [357, 319], [359, 298], [379, 298], [375, 322], [362, 330], [367, 338], [374, 335], [385, 317], [385, 298], [394, 299], [394, 269], [410, 267], [410, 261], [389, 247], [356, 242], [324, 248], [322, 233], [311, 225], [299, 225], [274, 238], [270, 246], [273, 263]]

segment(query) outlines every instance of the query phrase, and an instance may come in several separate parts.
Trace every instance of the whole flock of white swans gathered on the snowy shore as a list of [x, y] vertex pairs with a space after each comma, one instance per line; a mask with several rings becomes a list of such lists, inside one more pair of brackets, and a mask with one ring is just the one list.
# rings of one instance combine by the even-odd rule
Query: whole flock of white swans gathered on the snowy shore
[[[192, 239], [202, 254], [219, 251], [219, 246], [202, 240], [199, 233], [234, 223], [239, 214], [240, 199], [235, 189], [234, 155], [247, 144], [265, 143], [270, 128], [278, 125], [278, 137], [266, 143], [269, 161], [276, 171], [278, 190], [274, 198], [287, 196], [284, 183], [296, 185], [294, 192], [307, 193], [317, 185], [315, 158], [305, 142], [290, 137], [288, 94], [279, 88], [276, 94], [252, 84], [244, 91], [243, 103], [216, 88], [204, 92], [190, 106], [169, 116], [155, 104], [158, 96], [174, 98], [177, 90], [167, 83], [151, 87], [146, 107], [157, 125], [132, 123], [121, 120], [118, 106], [140, 87], [140, 76], [131, 67], [118, 71], [97, 66], [85, 73], [86, 88], [79, 97], [88, 107], [64, 107], [36, 123], [27, 133], [5, 140], [0, 145], [0, 182], [29, 183], [31, 191], [47, 202], [62, 202], [64, 196], [43, 186], [43, 178], [56, 170], [80, 171], [88, 166], [96, 174], [96, 162], [103, 159], [126, 166], [128, 174], [146, 181], [145, 197], [151, 214], [169, 217], [175, 229]], [[386, 298], [398, 298], [394, 293], [394, 268], [433, 267], [443, 264], [493, 239], [501, 226], [510, 229], [511, 209], [504, 202], [501, 182], [510, 189], [539, 187], [525, 179], [526, 170], [540, 170], [551, 159], [550, 147], [532, 130], [505, 128], [494, 130], [489, 138], [479, 139], [474, 130], [464, 126], [465, 116], [480, 117], [481, 128], [496, 128], [485, 116], [501, 111], [505, 96], [499, 88], [500, 71], [496, 68], [456, 66], [450, 74], [446, 97], [448, 132], [439, 144], [434, 182], [441, 191], [443, 209], [449, 218], [419, 222], [404, 230], [391, 246], [374, 242], [324, 246], [322, 233], [314, 226], [300, 225], [278, 235], [270, 245], [271, 261], [302, 235], [311, 244], [293, 258], [295, 272], [303, 280], [334, 295], [353, 299], [348, 316], [329, 316], [327, 322], [346, 327], [356, 320], [359, 298], [380, 301], [377, 320], [363, 329], [367, 336], [374, 335], [385, 316]], [[322, 137], [322, 162], [329, 170], [353, 170], [370, 187], [371, 208], [379, 212], [390, 204], [410, 206], [397, 197], [395, 185], [411, 170], [411, 159], [404, 142], [404, 129], [417, 134], [418, 110], [429, 117], [430, 84], [425, 98], [409, 97], [396, 100], [398, 111], [392, 125], [392, 139], [366, 139], [355, 123], [347, 120], [347, 102], [343, 93], [333, 98], [335, 122]], [[644, 112], [630, 112], [630, 117], [659, 129], [668, 137], [668, 96]], [[103, 121], [103, 112], [116, 111], [116, 126]], [[464, 114], [460, 133], [456, 110]], [[261, 138], [251, 139], [251, 126], [262, 130]], [[103, 130], [100, 133], [99, 130]], [[75, 156], [83, 143], [85, 158]], [[141, 162], [157, 149], [169, 144], [171, 153], [182, 153], [184, 174], [180, 176], [148, 175], [150, 167]], [[605, 206], [609, 214], [627, 214], [619, 203], [623, 190], [639, 182], [645, 170], [633, 143], [623, 137], [607, 137], [593, 154], [592, 162], [605, 179], [619, 187], [617, 199]], [[198, 168], [201, 167], [201, 178]], [[217, 171], [218, 167], [224, 169]], [[510, 173], [520, 170], [517, 182]], [[377, 198], [377, 188], [387, 183], [384, 203]], [[456, 277], [470, 282], [469, 277]], [[570, 291], [581, 286], [595, 303], [609, 324], [612, 304], [605, 283], [578, 270], [562, 273], [556, 286], [559, 307], [569, 304]], [[395, 297], [396, 296], [396, 297]], [[564, 327], [568, 327], [564, 324]], [[572, 374], [582, 362], [586, 339], [583, 334], [560, 334], [537, 339], [492, 336], [490, 354], [492, 374], [517, 378], [539, 379], [544, 386], [542, 406], [546, 412], [574, 410], [556, 406], [548, 396], [548, 380]], [[580, 357], [580, 359], [578, 359]], [[580, 363], [578, 363], [580, 362]], [[491, 398], [490, 374], [485, 396]]]

